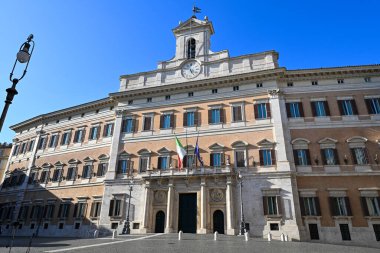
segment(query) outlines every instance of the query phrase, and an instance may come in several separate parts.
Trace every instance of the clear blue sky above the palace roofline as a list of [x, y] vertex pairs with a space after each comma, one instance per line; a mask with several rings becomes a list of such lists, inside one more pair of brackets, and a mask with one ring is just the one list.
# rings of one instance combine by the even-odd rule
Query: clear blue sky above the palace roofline
[[[171, 29], [192, 15], [194, 1], [2, 0], [0, 102], [15, 54], [33, 33], [36, 48], [18, 84], [9, 126], [104, 98], [119, 76], [156, 68], [174, 55]], [[213, 22], [213, 51], [231, 56], [276, 50], [288, 69], [380, 63], [380, 1], [196, 1]], [[2, 110], [2, 109], [1, 109]]]

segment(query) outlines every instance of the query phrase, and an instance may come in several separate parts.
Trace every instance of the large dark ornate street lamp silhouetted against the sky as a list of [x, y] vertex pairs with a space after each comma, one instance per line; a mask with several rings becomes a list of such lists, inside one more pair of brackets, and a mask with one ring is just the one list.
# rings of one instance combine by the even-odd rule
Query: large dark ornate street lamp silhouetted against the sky
[[[32, 48], [30, 49], [30, 47]], [[29, 53], [29, 50], [30, 50], [30, 53]], [[26, 74], [26, 71], [29, 66], [30, 58], [32, 57], [32, 54], [33, 54], [33, 50], [34, 50], [34, 41], [33, 41], [33, 34], [31, 34], [29, 35], [27, 40], [24, 43], [22, 43], [22, 45], [20, 46], [20, 51], [16, 55], [16, 60], [15, 60], [15, 63], [13, 64], [12, 72], [9, 75], [9, 80], [12, 82], [12, 87], [6, 89], [7, 97], [5, 99], [5, 106], [0, 118], [0, 132], [1, 132], [1, 129], [3, 128], [4, 120], [5, 120], [5, 117], [7, 116], [9, 105], [12, 104], [13, 97], [18, 94], [16, 90], [16, 85], [22, 78], [24, 78]], [[26, 65], [25, 65], [22, 75], [19, 78], [12, 78], [17, 62], [26, 63]]]

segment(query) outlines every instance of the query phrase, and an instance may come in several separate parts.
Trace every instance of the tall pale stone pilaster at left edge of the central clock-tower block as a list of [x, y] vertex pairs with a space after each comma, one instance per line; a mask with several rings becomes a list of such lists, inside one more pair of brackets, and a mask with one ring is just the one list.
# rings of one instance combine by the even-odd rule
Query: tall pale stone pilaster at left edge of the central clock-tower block
[[106, 174], [106, 180], [113, 180], [116, 176], [116, 166], [117, 158], [119, 153], [120, 135], [121, 135], [121, 125], [123, 121], [123, 110], [116, 110], [116, 119], [114, 124], [114, 131], [110, 147], [110, 160], [108, 164], [108, 171]]

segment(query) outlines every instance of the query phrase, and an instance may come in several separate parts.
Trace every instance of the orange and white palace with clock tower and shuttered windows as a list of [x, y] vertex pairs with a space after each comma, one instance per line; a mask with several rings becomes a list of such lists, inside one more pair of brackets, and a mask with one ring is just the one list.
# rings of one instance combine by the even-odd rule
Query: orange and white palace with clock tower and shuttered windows
[[129, 213], [131, 233], [379, 241], [380, 66], [230, 57], [195, 16], [173, 33], [175, 56], [118, 92], [12, 126], [3, 232], [121, 233]]

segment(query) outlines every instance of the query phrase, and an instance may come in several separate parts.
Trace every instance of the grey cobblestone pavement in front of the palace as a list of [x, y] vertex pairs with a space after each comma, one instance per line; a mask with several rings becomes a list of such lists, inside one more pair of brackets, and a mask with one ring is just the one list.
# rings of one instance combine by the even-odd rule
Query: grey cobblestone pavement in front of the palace
[[[17, 237], [12, 248], [13, 253], [27, 252], [29, 238]], [[0, 252], [8, 253], [9, 237], [0, 237]], [[120, 236], [116, 239], [77, 239], [77, 238], [36, 238], [30, 249], [34, 252], [94, 252], [94, 253], [145, 253], [145, 252], [181, 252], [181, 253], [240, 253], [240, 252], [380, 252], [377, 248], [358, 247], [351, 245], [332, 245], [309, 242], [267, 242], [263, 239], [250, 238], [248, 242], [244, 237], [219, 235], [213, 240], [213, 235], [184, 234], [183, 240], [178, 241], [177, 234], [149, 234]]]

